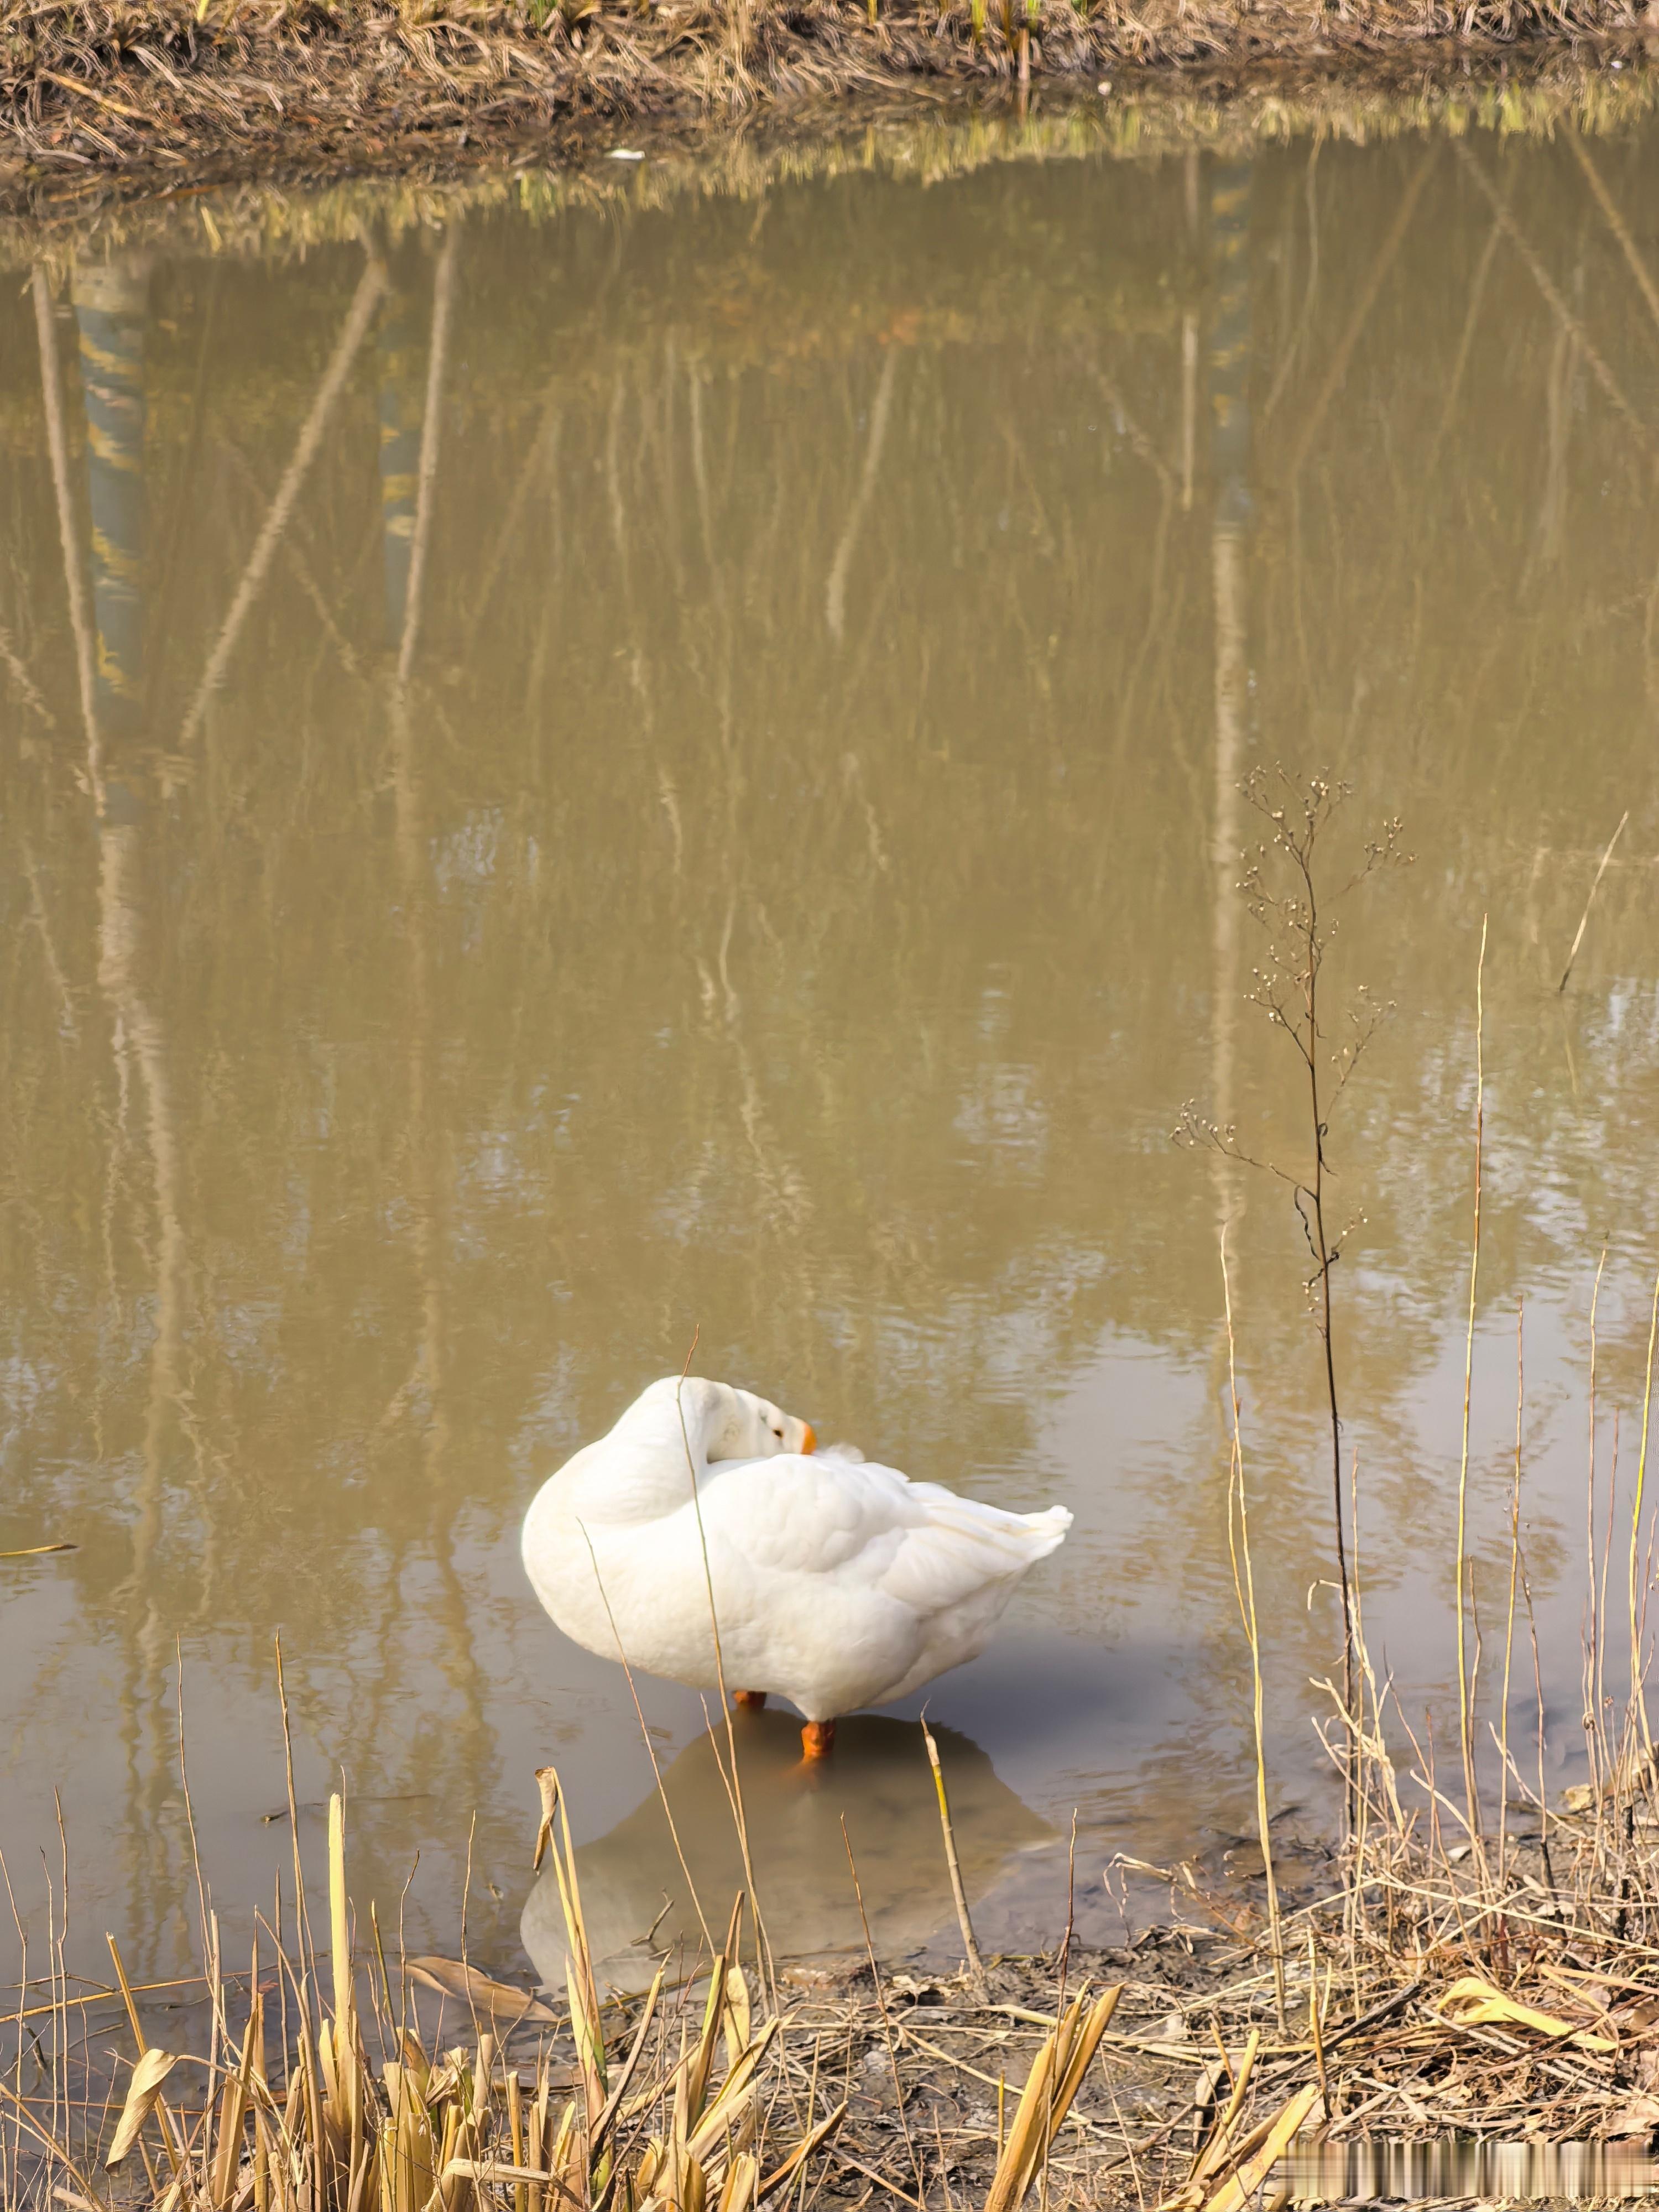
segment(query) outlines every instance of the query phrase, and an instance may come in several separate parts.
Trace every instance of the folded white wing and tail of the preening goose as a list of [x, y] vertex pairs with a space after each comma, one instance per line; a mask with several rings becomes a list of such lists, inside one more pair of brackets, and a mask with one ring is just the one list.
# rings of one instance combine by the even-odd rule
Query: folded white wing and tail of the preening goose
[[701, 1509], [710, 1546], [730, 1544], [774, 1573], [863, 1584], [918, 1613], [1022, 1575], [1071, 1528], [1064, 1506], [1004, 1513], [896, 1467], [830, 1453], [710, 1469]]

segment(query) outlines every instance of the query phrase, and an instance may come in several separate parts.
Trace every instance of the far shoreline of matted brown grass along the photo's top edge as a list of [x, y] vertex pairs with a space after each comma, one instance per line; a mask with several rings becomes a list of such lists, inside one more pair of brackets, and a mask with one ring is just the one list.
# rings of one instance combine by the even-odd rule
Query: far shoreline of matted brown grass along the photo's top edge
[[0, 212], [686, 161], [894, 111], [1046, 111], [1137, 146], [1356, 104], [1526, 128], [1544, 100], [1597, 126], [1655, 58], [1659, 0], [69, 0], [4, 18]]

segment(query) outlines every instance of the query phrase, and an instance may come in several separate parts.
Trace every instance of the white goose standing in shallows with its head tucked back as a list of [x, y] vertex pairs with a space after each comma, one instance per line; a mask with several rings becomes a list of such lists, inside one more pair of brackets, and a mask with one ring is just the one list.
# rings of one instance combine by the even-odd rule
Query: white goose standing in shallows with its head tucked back
[[[701, 1520], [701, 1528], [699, 1528]], [[807, 1759], [836, 1714], [978, 1657], [1071, 1513], [1004, 1513], [911, 1482], [752, 1391], [664, 1376], [535, 1493], [524, 1571], [591, 1652], [699, 1690], [799, 1705]]]

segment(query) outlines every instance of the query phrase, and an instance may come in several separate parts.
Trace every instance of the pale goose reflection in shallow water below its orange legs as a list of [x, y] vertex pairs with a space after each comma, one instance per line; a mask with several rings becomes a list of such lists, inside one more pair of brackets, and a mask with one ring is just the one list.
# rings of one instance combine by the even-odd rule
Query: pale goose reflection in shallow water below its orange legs
[[[830, 1765], [803, 1763], [799, 1721], [787, 1712], [739, 1712], [734, 1734], [754, 1885], [779, 1960], [863, 1958], [843, 1816], [876, 1955], [900, 1958], [953, 1929], [938, 1798], [914, 1721], [880, 1714], [843, 1721]], [[973, 1905], [1020, 1851], [1053, 1840], [1053, 1829], [998, 1781], [978, 1743], [951, 1728], [933, 1728], [933, 1739]], [[661, 1960], [703, 1947], [703, 1920], [717, 1940], [726, 1931], [743, 1887], [743, 1856], [717, 1750], [723, 1763], [723, 1728], [717, 1739], [699, 1736], [664, 1770], [695, 1896], [655, 1790], [608, 1836], [575, 1854], [602, 1986], [646, 1989]], [[522, 1936], [542, 1982], [564, 1989], [564, 1916], [551, 1869], [529, 1893]]]

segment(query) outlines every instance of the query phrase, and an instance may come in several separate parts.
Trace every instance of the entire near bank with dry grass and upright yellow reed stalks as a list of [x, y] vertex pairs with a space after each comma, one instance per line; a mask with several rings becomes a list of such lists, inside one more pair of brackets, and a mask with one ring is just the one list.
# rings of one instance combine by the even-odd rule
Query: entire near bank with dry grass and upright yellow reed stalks
[[739, 1905], [644, 1997], [595, 1978], [568, 1834], [566, 1984], [538, 1997], [511, 1964], [405, 1958], [356, 1913], [336, 1798], [327, 1896], [307, 1907], [296, 1867], [246, 1966], [206, 1891], [195, 1982], [135, 1991], [111, 1940], [93, 1991], [60, 1931], [24, 1966], [0, 2011], [0, 2203], [1265, 2212], [1650, 2188], [1652, 1761], [1495, 1836], [1444, 1796], [1444, 1829], [1402, 1816], [1376, 1741], [1360, 1767], [1347, 1849], [1281, 1836], [1272, 1887], [1261, 1856], [1168, 1869], [1170, 1911], [1121, 1949], [792, 1966]]

